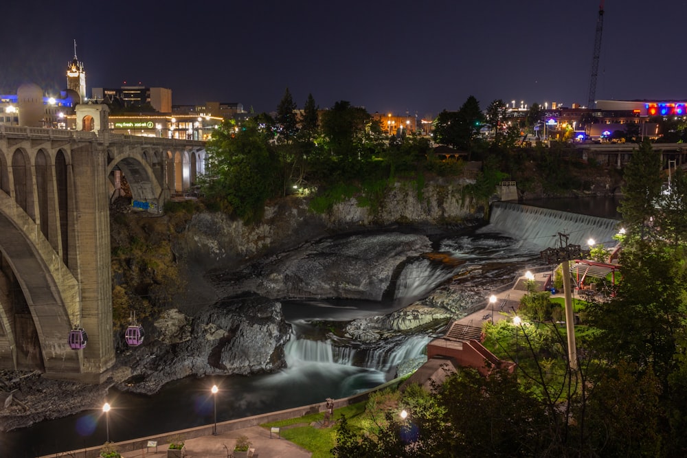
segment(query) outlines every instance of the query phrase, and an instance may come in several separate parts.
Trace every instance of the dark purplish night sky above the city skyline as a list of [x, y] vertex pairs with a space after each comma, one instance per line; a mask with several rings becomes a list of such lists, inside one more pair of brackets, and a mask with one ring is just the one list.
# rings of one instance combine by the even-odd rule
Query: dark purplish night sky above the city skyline
[[[174, 104], [337, 100], [436, 115], [469, 95], [586, 104], [598, 0], [3, 2], [0, 91], [170, 87]], [[605, 1], [597, 99], [687, 98], [687, 1]]]

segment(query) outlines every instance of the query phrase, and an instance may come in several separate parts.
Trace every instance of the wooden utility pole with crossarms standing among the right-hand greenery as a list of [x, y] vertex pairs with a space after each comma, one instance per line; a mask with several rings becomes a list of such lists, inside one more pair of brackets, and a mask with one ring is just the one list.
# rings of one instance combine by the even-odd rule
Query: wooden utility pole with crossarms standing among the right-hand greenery
[[[558, 233], [559, 248], [547, 248], [541, 251], [541, 257], [549, 264], [561, 262], [563, 268], [563, 291], [565, 293], [565, 330], [567, 332], [567, 354], [570, 369], [577, 369], [577, 350], [575, 345], [575, 323], [572, 313], [572, 288], [570, 287], [570, 261], [589, 256], [589, 250], [583, 251], [580, 245], [568, 243], [570, 234]], [[563, 242], [565, 241], [565, 246]]]

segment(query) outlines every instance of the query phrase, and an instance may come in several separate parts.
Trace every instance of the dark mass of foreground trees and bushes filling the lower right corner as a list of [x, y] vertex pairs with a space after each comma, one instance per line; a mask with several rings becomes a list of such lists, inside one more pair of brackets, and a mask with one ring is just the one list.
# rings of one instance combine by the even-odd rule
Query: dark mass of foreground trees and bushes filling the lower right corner
[[430, 391], [394, 394], [379, 422], [343, 418], [333, 455], [687, 455], [687, 179], [678, 170], [662, 193], [651, 146], [641, 150], [621, 207], [622, 281], [578, 304], [576, 364], [552, 308], [538, 305], [546, 298], [532, 298], [528, 321], [485, 328], [485, 345], [518, 362], [512, 372], [462, 368]]

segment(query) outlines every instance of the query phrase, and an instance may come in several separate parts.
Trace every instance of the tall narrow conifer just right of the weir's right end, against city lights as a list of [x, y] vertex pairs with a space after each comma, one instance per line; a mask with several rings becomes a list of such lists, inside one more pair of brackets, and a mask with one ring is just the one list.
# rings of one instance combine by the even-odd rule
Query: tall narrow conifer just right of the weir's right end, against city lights
[[656, 216], [655, 204], [662, 185], [660, 170], [660, 154], [653, 151], [649, 139], [644, 139], [624, 168], [618, 210], [629, 238], [644, 238]]

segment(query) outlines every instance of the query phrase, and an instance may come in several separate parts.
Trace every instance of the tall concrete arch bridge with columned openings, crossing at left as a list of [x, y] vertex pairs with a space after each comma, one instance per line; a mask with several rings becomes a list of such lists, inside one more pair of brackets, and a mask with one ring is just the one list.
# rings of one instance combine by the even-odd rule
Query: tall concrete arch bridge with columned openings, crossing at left
[[[131, 196], [159, 213], [204, 169], [203, 141], [0, 126], [0, 368], [103, 380], [115, 360], [109, 204]], [[88, 333], [81, 350], [74, 328]]]

